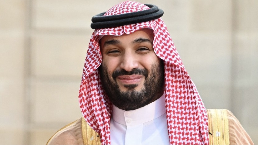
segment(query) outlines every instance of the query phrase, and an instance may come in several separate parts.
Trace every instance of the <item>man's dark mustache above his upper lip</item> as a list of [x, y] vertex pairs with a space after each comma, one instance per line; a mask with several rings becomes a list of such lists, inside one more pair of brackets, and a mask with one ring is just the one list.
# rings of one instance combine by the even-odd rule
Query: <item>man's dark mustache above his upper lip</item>
[[146, 69], [135, 68], [135, 69], [133, 69], [131, 71], [126, 71], [124, 69], [122, 69], [122, 70], [115, 70], [112, 73], [112, 77], [113, 77], [114, 80], [116, 79], [117, 76], [120, 76], [120, 75], [143, 75], [143, 76], [145, 76], [145, 78], [147, 78], [148, 71]]

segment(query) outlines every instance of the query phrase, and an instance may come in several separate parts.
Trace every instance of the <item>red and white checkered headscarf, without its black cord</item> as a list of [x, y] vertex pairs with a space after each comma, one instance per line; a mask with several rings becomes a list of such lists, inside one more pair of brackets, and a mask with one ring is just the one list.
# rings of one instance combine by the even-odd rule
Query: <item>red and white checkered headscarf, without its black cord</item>
[[[149, 9], [138, 2], [122, 2], [104, 16]], [[130, 34], [142, 28], [154, 31], [153, 47], [164, 60], [166, 118], [170, 144], [209, 144], [208, 118], [196, 86], [187, 74], [161, 18], [115, 28], [96, 29], [90, 39], [79, 92], [82, 114], [100, 134], [102, 144], [110, 144], [112, 104], [103, 92], [97, 68], [102, 63], [98, 35]]]

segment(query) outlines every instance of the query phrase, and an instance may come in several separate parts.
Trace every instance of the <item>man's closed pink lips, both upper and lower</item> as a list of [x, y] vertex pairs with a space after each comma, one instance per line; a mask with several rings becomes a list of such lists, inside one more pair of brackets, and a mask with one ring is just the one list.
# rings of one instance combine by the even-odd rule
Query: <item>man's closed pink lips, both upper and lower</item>
[[117, 79], [123, 84], [137, 84], [143, 77], [143, 75], [120, 75], [117, 76]]

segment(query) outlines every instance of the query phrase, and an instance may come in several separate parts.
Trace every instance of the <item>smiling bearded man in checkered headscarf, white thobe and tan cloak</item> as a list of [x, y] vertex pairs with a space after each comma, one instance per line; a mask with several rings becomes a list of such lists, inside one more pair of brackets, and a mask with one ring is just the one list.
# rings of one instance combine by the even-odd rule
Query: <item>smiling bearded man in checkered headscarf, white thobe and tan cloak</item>
[[[209, 144], [222, 136], [209, 130], [212, 119], [162, 15], [154, 5], [126, 1], [92, 18], [79, 94], [83, 119], [47, 144], [87, 144], [95, 131], [101, 144]], [[225, 143], [253, 144], [234, 115], [224, 114]]]

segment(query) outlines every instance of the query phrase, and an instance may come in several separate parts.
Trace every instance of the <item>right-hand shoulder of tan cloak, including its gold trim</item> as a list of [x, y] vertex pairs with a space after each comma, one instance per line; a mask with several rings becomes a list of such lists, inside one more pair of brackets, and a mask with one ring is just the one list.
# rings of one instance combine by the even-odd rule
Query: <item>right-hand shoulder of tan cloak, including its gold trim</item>
[[207, 109], [210, 144], [254, 144], [238, 119], [227, 109]]

